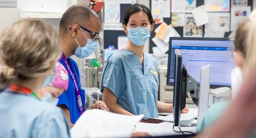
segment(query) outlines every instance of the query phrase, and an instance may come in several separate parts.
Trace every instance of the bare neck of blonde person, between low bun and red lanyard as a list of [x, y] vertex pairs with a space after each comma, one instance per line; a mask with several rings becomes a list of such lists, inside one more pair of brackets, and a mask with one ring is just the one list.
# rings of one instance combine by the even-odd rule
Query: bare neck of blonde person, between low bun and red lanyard
[[29, 79], [25, 81], [18, 81], [15, 83], [16, 85], [20, 85], [30, 89], [32, 92], [38, 94], [38, 90], [42, 87], [44, 79], [36, 78], [36, 79]]

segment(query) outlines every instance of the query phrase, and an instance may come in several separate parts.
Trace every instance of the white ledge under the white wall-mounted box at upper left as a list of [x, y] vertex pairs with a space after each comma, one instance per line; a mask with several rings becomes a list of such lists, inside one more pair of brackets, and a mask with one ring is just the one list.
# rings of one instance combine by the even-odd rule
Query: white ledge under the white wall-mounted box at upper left
[[61, 18], [63, 13], [33, 13], [21, 12], [21, 18]]

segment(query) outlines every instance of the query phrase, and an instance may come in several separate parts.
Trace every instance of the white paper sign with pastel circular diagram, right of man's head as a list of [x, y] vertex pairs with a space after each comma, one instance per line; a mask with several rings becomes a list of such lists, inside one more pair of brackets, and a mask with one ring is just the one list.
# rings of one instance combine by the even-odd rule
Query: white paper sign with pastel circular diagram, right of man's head
[[120, 23], [120, 4], [104, 4], [104, 23]]

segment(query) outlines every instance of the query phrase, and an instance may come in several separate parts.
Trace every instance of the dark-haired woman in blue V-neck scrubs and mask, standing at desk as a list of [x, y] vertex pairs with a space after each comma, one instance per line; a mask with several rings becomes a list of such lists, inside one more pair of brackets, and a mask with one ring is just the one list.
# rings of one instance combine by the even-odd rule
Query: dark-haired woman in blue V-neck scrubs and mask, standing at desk
[[[157, 61], [143, 51], [154, 25], [146, 6], [134, 4], [126, 10], [123, 29], [128, 44], [109, 57], [101, 81], [103, 102], [111, 112], [156, 118], [158, 112], [173, 111], [173, 104], [157, 101]], [[188, 110], [185, 108], [183, 112]]]

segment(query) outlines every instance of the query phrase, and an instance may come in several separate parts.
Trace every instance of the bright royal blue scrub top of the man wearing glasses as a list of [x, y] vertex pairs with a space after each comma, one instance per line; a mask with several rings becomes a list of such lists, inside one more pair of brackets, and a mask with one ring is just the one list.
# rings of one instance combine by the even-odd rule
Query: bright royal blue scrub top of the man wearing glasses
[[[79, 74], [78, 66], [77, 66], [76, 62], [73, 59], [71, 59], [70, 57], [67, 59], [67, 61], [70, 64], [70, 68], [73, 72], [74, 77], [76, 78], [77, 85], [80, 88], [80, 74]], [[60, 59], [59, 62], [66, 68], [66, 70], [68, 70], [62, 59]], [[62, 95], [60, 95], [58, 97], [59, 102], [57, 105], [64, 104], [67, 106], [69, 113], [70, 113], [71, 123], [75, 124], [77, 119], [80, 117], [80, 113], [79, 113], [79, 109], [76, 104], [75, 84], [74, 84], [74, 81], [69, 73], [68, 73], [68, 77], [69, 77], [68, 90], [66, 92], [62, 93]], [[80, 92], [81, 92], [82, 103], [84, 105], [85, 91], [80, 90]], [[85, 110], [84, 107], [83, 107], [83, 109]]]

